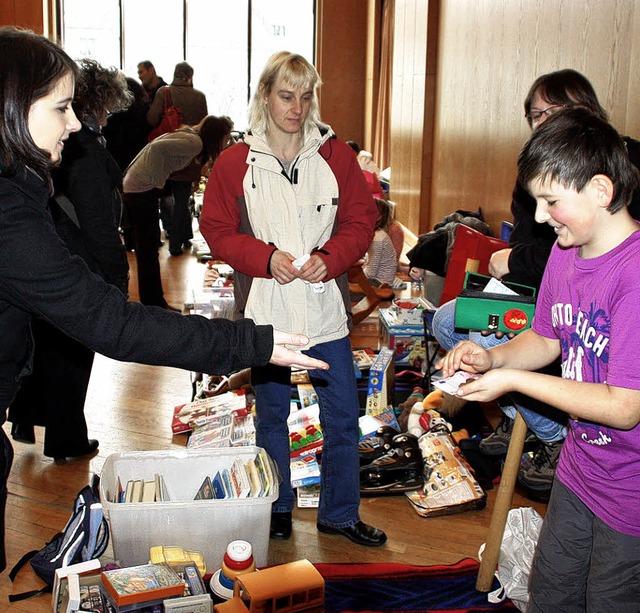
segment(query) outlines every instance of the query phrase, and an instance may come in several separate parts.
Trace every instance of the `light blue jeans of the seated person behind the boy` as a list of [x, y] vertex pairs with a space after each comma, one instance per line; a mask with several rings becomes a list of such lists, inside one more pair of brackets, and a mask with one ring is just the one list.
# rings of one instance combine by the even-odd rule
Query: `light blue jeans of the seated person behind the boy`
[[[433, 316], [433, 335], [446, 351], [453, 349], [460, 341], [470, 340], [480, 345], [480, 347], [490, 349], [509, 340], [506, 336], [498, 339], [495, 334], [483, 336], [475, 330], [457, 331], [454, 325], [455, 312], [456, 301], [450, 300], [439, 307]], [[516, 410], [520, 411], [529, 429], [545, 443], [564, 440], [567, 436], [566, 416], [564, 413], [542, 403], [537, 403], [526, 396], [519, 396], [519, 398], [527, 404], [535, 404], [535, 409], [527, 408], [521, 403], [512, 402], [510, 405], [501, 405], [502, 412], [511, 419], [515, 419]]]

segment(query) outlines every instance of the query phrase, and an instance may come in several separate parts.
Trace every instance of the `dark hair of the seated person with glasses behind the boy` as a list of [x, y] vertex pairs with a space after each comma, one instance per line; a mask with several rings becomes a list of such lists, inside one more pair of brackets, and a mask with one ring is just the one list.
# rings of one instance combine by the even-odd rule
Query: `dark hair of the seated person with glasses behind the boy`
[[608, 121], [607, 112], [598, 101], [593, 85], [577, 70], [565, 68], [539, 76], [529, 88], [524, 101], [524, 114], [531, 126], [529, 112], [536, 94], [549, 104], [558, 106], [581, 106], [589, 109], [594, 115]]

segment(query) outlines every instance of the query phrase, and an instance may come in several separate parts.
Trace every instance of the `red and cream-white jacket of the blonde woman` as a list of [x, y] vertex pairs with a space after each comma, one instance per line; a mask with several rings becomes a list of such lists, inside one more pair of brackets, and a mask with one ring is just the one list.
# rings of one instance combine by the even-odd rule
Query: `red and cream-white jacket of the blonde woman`
[[[353, 150], [317, 126], [288, 173], [262, 135], [225, 150], [207, 182], [200, 231], [212, 256], [236, 272], [238, 314], [306, 334], [312, 346], [348, 334], [346, 271], [367, 251], [377, 217]], [[280, 285], [269, 272], [276, 249], [320, 255], [325, 291], [300, 279]]]

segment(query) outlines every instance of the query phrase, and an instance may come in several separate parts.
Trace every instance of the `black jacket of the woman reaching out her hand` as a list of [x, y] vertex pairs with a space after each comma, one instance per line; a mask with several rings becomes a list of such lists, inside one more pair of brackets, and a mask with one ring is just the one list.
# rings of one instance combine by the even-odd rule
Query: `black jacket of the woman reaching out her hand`
[[0, 422], [30, 372], [34, 316], [117, 360], [221, 374], [268, 362], [271, 326], [127, 302], [69, 253], [47, 206], [47, 183], [29, 170], [5, 174], [0, 160]]

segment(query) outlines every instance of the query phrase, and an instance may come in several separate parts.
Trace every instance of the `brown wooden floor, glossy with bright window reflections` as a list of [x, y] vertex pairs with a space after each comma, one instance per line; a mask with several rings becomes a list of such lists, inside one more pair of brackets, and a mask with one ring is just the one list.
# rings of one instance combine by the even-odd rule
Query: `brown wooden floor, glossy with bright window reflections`
[[[199, 287], [204, 265], [195, 257], [171, 257], [165, 245], [160, 251], [165, 296], [181, 306], [190, 287]], [[132, 298], [135, 298], [135, 263], [132, 266]], [[150, 339], [150, 342], [153, 342]], [[377, 315], [365, 319], [352, 334], [354, 346], [379, 348]], [[42, 455], [42, 429], [36, 428], [35, 445], [14, 443], [15, 461], [9, 478], [6, 512], [8, 568], [27, 551], [39, 549], [66, 523], [75, 494], [99, 473], [111, 453], [167, 449], [184, 445], [185, 435], [172, 437], [170, 418], [175, 405], [190, 399], [190, 373], [174, 368], [120, 363], [97, 356], [86, 403], [89, 434], [100, 441], [92, 458], [54, 462]], [[7, 433], [10, 424], [5, 424]], [[289, 541], [271, 541], [271, 563], [308, 558], [312, 562], [402, 562], [452, 564], [477, 557], [491, 519], [496, 489], [488, 492], [482, 511], [424, 519], [404, 496], [364, 498], [362, 519], [386, 531], [389, 540], [379, 549], [355, 546], [344, 538], [318, 534], [316, 512], [294, 511], [294, 533]], [[544, 514], [545, 505], [520, 494], [514, 506], [533, 506]], [[103, 561], [108, 561], [111, 550]], [[51, 610], [49, 596], [9, 605], [12, 592], [41, 587], [42, 582], [27, 565], [11, 584], [8, 572], [0, 574], [0, 613]]]

